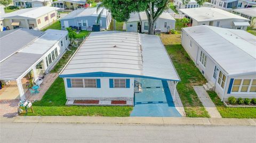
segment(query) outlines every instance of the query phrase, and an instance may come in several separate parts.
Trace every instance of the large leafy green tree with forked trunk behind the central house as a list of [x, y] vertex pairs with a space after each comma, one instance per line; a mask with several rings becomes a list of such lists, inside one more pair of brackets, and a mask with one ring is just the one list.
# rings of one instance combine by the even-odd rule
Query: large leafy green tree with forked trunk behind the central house
[[154, 23], [168, 9], [169, 0], [102, 0], [102, 5], [111, 12], [118, 22], [130, 19], [133, 12], [146, 12], [148, 18], [148, 33], [154, 35]]

